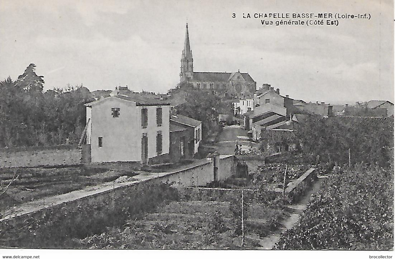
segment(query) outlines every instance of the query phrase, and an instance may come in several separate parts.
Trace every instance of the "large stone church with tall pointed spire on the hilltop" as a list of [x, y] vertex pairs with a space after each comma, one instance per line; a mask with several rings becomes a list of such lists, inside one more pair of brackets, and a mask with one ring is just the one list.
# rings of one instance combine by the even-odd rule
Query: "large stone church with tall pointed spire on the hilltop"
[[188, 23], [186, 24], [184, 50], [181, 55], [180, 83], [189, 83], [194, 88], [208, 89], [225, 98], [252, 98], [256, 91], [256, 81], [248, 73], [240, 71], [194, 72], [194, 59], [189, 43]]

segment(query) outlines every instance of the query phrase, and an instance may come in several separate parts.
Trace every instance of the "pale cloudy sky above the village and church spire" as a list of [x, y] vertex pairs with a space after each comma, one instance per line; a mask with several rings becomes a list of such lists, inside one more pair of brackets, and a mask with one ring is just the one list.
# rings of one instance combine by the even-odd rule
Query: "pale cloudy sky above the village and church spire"
[[[243, 18], [278, 12], [371, 19], [262, 26]], [[258, 88], [269, 83], [305, 101], [394, 101], [391, 0], [2, 0], [0, 80], [34, 63], [44, 90], [128, 85], [166, 93], [180, 80], [186, 21], [195, 71], [248, 72]]]

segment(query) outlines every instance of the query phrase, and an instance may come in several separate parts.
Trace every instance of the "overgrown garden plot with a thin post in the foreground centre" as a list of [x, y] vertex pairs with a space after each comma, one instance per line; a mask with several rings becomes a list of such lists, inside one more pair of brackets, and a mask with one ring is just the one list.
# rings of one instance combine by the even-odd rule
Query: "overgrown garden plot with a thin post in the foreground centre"
[[241, 191], [226, 191], [220, 198], [181, 191], [179, 200], [129, 220], [123, 229], [88, 236], [80, 241], [80, 248], [257, 249], [261, 238], [281, 227], [287, 212], [254, 202], [252, 195], [246, 195], [242, 246], [240, 201]]

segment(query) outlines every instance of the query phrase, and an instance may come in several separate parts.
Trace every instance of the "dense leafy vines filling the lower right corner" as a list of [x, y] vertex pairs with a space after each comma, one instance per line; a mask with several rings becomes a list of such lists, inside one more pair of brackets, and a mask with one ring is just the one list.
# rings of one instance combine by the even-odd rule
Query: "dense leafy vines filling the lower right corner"
[[276, 249], [393, 249], [393, 168], [338, 170]]

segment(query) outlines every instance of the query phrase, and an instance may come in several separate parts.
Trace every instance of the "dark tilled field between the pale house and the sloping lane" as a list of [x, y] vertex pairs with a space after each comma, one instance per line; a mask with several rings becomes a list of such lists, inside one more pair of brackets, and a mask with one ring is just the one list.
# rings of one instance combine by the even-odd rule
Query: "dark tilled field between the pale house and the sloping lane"
[[68, 193], [90, 185], [114, 181], [120, 176], [135, 176], [127, 170], [73, 166], [66, 168], [0, 168], [0, 181], [12, 184], [0, 200], [0, 211], [24, 202]]

